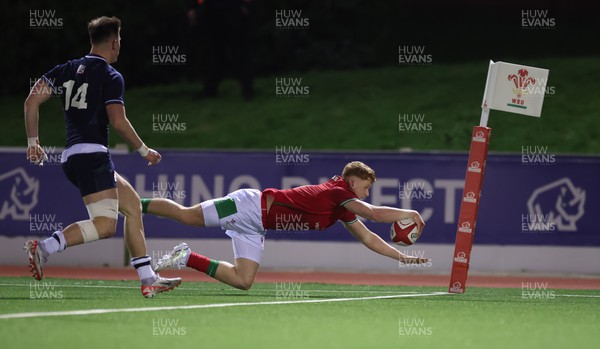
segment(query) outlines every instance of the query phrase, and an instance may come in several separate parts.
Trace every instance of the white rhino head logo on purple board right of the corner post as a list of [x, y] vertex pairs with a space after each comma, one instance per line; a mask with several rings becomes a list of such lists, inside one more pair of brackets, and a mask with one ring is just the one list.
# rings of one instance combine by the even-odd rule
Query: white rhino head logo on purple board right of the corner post
[[585, 213], [585, 190], [565, 177], [533, 191], [527, 200], [530, 217], [545, 217], [558, 231], [577, 231], [575, 225]]

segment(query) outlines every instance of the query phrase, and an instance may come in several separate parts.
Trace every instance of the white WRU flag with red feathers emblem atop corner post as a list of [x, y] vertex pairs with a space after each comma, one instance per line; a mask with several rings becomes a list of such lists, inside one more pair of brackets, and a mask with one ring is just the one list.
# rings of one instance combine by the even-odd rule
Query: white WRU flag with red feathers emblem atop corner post
[[482, 108], [539, 117], [548, 69], [490, 61]]

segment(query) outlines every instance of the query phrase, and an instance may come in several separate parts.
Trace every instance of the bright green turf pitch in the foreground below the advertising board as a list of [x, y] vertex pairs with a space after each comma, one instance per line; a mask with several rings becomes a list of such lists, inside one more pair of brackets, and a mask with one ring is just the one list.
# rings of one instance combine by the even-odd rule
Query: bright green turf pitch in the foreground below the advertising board
[[[600, 339], [597, 290], [450, 295], [277, 283], [243, 292], [189, 282], [148, 300], [134, 281], [5, 277], [0, 285], [3, 348], [584, 348]], [[83, 314], [62, 313], [70, 311]], [[38, 314], [11, 315], [19, 313]]]

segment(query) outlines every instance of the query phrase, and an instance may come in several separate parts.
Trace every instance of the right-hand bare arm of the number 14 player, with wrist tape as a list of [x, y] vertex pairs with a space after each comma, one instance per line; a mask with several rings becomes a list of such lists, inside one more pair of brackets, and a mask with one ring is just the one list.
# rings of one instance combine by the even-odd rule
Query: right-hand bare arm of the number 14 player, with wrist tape
[[148, 166], [156, 165], [162, 156], [154, 149], [148, 148], [125, 116], [125, 107], [122, 104], [109, 104], [106, 106], [106, 113], [110, 125], [129, 145], [136, 149], [140, 155], [148, 160]]

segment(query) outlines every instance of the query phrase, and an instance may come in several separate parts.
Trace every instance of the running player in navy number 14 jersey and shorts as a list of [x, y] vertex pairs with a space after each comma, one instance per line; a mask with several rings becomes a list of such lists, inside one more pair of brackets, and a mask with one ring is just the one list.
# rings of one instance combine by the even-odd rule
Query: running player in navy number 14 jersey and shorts
[[41, 165], [47, 157], [38, 140], [39, 107], [51, 97], [50, 91], [60, 95], [67, 132], [62, 168], [79, 189], [89, 213], [89, 220], [73, 223], [45, 240], [27, 241], [25, 251], [33, 277], [41, 280], [48, 256], [113, 236], [121, 212], [125, 217], [125, 242], [133, 257], [131, 265], [139, 274], [143, 296], [151, 298], [179, 286], [181, 278], [162, 278], [152, 270], [151, 258], [146, 254], [140, 198], [115, 172], [107, 148], [110, 125], [148, 165], [156, 165], [161, 159], [142, 142], [125, 116], [123, 77], [111, 66], [119, 56], [120, 31], [121, 21], [116, 17], [91, 20], [90, 53], [44, 74], [25, 101], [27, 159]]

